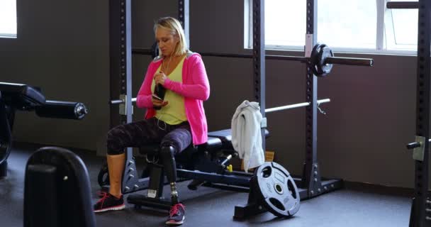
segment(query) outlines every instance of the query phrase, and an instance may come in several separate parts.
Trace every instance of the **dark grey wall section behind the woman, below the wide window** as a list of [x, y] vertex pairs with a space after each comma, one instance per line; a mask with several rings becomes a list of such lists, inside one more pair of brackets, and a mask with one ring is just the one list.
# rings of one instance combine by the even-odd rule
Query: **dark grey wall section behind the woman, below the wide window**
[[[135, 14], [140, 16], [134, 27], [141, 29], [133, 30], [133, 45], [150, 48], [154, 42], [150, 33], [152, 21], [159, 16], [177, 16], [177, 6], [167, 1], [139, 1], [136, 5], [139, 13]], [[243, 18], [243, 1], [190, 1], [191, 50], [247, 52], [242, 49]], [[303, 52], [281, 54], [303, 55]], [[318, 79], [319, 99], [331, 99], [321, 106], [327, 114], [318, 115], [318, 161], [322, 175], [412, 187], [414, 162], [405, 145], [413, 142], [415, 135], [415, 57], [336, 54], [371, 57], [375, 65], [336, 65], [329, 77]], [[149, 58], [138, 55], [134, 58], [134, 72], [138, 73], [134, 84], [140, 84]], [[203, 57], [203, 60], [211, 84], [211, 97], [205, 103], [209, 129], [229, 128], [237, 105], [245, 99], [252, 100], [252, 60], [223, 57]], [[266, 64], [267, 108], [306, 100], [303, 64], [280, 60], [267, 60]], [[269, 113], [267, 120], [271, 132], [267, 150], [274, 150], [276, 162], [293, 175], [302, 175], [305, 109]]]

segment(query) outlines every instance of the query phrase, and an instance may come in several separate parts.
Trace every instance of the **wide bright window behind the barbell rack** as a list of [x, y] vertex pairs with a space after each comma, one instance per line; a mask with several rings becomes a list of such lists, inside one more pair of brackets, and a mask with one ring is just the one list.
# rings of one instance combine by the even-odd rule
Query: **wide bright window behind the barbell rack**
[[[320, 43], [338, 52], [415, 54], [418, 9], [386, 9], [387, 1], [416, 0], [318, 0]], [[267, 49], [303, 50], [306, 33], [306, 0], [266, 0]], [[252, 48], [252, 0], [245, 0], [245, 47]]]

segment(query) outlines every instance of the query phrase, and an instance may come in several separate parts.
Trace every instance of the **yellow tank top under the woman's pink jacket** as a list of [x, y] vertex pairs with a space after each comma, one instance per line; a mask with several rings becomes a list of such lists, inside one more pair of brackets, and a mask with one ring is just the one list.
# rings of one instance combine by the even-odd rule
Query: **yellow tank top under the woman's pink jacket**
[[[185, 57], [184, 57], [185, 58]], [[177, 67], [171, 72], [171, 74], [167, 75], [170, 80], [174, 82], [182, 82], [182, 70], [184, 65], [184, 58], [178, 63]], [[156, 70], [160, 72], [162, 65]], [[151, 84], [151, 92], [154, 93], [155, 81], [152, 80]], [[177, 125], [183, 121], [187, 121], [186, 116], [186, 108], [184, 107], [184, 97], [172, 92], [169, 89], [166, 89], [166, 93], [164, 94], [164, 100], [169, 103], [166, 106], [163, 106], [162, 109], [156, 111], [156, 118], [160, 121], [164, 121], [169, 123], [169, 125]]]

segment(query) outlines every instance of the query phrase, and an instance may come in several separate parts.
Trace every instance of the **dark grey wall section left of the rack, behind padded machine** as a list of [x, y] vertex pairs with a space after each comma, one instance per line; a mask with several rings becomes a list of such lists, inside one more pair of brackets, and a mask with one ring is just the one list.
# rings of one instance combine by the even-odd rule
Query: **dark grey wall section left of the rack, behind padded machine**
[[0, 39], [0, 80], [41, 87], [50, 100], [83, 102], [90, 114], [73, 121], [17, 112], [14, 140], [96, 149], [108, 121], [100, 105], [108, 101], [107, 6], [101, 0], [17, 1], [18, 38]]

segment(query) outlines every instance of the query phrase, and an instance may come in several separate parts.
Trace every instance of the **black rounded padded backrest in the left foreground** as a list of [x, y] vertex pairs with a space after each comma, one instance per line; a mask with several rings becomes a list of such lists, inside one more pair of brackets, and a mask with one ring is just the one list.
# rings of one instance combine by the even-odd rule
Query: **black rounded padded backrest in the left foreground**
[[24, 227], [95, 227], [84, 162], [64, 148], [40, 148], [28, 159]]

